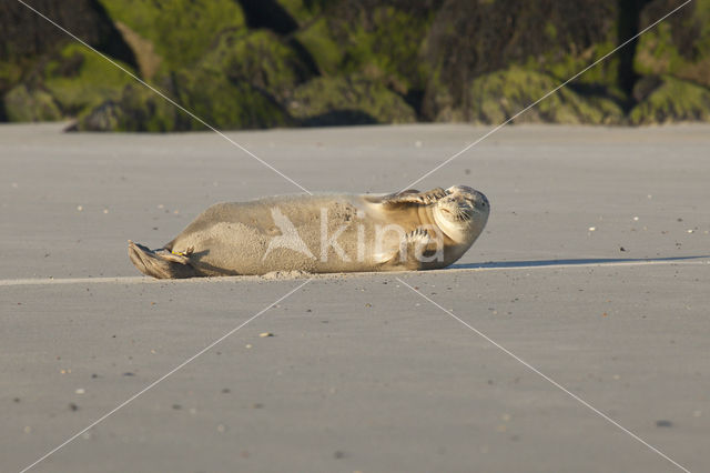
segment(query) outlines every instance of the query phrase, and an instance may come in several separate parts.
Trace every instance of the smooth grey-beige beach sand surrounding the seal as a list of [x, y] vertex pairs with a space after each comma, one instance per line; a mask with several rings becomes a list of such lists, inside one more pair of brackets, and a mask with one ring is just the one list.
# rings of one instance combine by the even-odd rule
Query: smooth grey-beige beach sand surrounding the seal
[[[60, 131], [0, 127], [2, 471], [306, 281], [142, 278], [128, 239], [159, 246], [214, 202], [300, 189], [213, 133]], [[311, 191], [392, 192], [486, 131], [229, 134]], [[454, 268], [317, 276], [33, 471], [676, 467], [500, 346], [702, 471], [708, 150], [710, 125], [506, 128], [417, 184], [491, 202]]]

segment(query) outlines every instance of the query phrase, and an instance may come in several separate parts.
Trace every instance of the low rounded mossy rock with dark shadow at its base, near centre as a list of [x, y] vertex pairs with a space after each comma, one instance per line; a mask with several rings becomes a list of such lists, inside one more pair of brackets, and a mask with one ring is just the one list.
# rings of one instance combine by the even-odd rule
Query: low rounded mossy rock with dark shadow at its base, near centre
[[308, 81], [295, 90], [288, 112], [306, 127], [416, 121], [402, 97], [361, 76]]

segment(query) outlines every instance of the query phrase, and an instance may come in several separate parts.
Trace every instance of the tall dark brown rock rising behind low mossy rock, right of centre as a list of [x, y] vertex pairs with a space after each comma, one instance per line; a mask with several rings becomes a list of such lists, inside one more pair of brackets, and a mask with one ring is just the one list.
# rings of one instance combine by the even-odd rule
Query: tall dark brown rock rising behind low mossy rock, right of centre
[[[427, 61], [435, 77], [424, 115], [437, 120], [456, 108], [464, 120], [478, 120], [470, 113], [478, 100], [471, 82], [509, 66], [561, 82], [594, 62], [601, 44], [615, 41], [616, 14], [613, 0], [447, 0], [429, 32]], [[599, 81], [608, 85], [613, 79], [604, 71]]]

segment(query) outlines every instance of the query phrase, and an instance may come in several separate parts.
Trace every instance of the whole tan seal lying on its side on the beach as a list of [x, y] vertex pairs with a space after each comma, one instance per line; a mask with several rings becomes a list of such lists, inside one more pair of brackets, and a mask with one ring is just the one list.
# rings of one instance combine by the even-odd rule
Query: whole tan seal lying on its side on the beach
[[159, 279], [439, 269], [470, 248], [489, 212], [466, 185], [224, 202], [159, 250], [129, 240], [129, 256]]

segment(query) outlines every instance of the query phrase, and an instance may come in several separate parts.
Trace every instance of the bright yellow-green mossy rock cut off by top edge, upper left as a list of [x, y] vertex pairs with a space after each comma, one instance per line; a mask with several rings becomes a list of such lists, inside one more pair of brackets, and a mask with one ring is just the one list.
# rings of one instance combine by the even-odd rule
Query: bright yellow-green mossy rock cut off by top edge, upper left
[[217, 34], [245, 29], [234, 0], [100, 0], [111, 18], [154, 46], [161, 72], [200, 60]]

